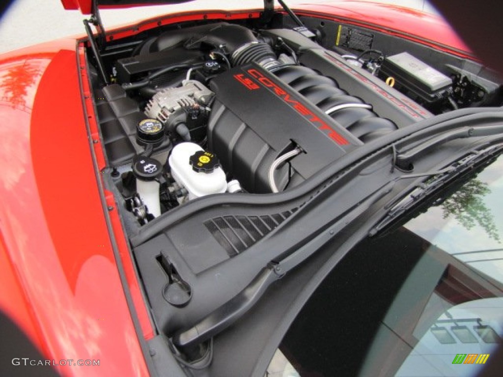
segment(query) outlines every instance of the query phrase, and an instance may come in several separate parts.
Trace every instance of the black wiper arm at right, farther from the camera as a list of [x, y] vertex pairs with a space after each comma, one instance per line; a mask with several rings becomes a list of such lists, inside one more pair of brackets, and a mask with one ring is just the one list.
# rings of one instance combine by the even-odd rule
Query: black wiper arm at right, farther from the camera
[[420, 145], [413, 147], [407, 151], [399, 152], [395, 158], [395, 165], [404, 170], [410, 170], [409, 166], [414, 159], [421, 157], [437, 145], [446, 143], [455, 139], [463, 139], [470, 137], [481, 137], [502, 134], [503, 124], [494, 126], [480, 126], [480, 127], [463, 127], [457, 130], [444, 132], [436, 137], [433, 137]]

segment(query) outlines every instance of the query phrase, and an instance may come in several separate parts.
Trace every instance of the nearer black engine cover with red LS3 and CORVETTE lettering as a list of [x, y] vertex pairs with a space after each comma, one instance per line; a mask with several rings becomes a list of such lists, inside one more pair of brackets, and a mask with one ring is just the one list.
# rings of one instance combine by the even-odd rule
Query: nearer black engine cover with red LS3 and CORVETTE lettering
[[214, 78], [208, 145], [224, 170], [253, 193], [270, 193], [268, 172], [295, 145], [301, 153], [275, 174], [280, 190], [299, 184], [362, 142], [257, 64]]

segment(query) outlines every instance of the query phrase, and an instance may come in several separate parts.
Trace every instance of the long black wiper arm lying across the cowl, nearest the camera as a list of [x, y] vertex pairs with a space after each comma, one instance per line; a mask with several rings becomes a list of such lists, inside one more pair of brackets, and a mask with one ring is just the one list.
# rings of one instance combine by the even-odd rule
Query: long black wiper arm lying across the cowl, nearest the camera
[[372, 204], [390, 193], [394, 184], [394, 182], [389, 182], [382, 186], [374, 194], [367, 197], [367, 199], [348, 210], [336, 223], [328, 228], [328, 231], [320, 232], [320, 234], [293, 253], [280, 261], [269, 262], [237, 296], [191, 328], [176, 333], [172, 338], [173, 344], [180, 348], [191, 348], [228, 328], [254, 307], [274, 281], [280, 279], [292, 268], [304, 262], [332, 237], [336, 236], [348, 224], [368, 210]]

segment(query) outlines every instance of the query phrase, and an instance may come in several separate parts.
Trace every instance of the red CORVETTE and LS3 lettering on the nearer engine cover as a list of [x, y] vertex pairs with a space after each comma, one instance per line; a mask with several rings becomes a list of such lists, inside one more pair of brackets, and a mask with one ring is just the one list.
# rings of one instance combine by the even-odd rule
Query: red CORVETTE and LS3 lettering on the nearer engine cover
[[[284, 102], [286, 102], [289, 106], [297, 111], [300, 115], [307, 118], [314, 126], [318, 128], [318, 130], [322, 131], [326, 134], [331, 140], [339, 145], [347, 145], [349, 144], [348, 140], [341, 134], [339, 134], [336, 130], [334, 130], [331, 126], [326, 124], [323, 120], [321, 120], [317, 115], [315, 115], [311, 110], [306, 108], [300, 102], [292, 98], [289, 93], [285, 91], [278, 84], [273, 82], [270, 78], [264, 76], [257, 69], [251, 68], [248, 69], [248, 74], [255, 79], [257, 79], [262, 85], [271, 90], [277, 97], [281, 98]], [[247, 78], [243, 74], [234, 75], [239, 82], [244, 84], [249, 89], [258, 89], [259, 86], [252, 81], [250, 78]], [[252, 85], [253, 84], [253, 85]]]

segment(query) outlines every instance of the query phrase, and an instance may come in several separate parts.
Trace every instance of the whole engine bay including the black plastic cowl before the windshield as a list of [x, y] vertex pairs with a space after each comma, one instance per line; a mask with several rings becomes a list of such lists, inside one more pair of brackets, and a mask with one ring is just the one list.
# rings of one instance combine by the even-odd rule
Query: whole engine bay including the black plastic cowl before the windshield
[[215, 334], [413, 170], [402, 134], [503, 105], [494, 72], [393, 33], [204, 16], [86, 49], [100, 177], [152, 327], [184, 365], [211, 361]]

